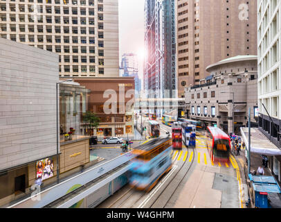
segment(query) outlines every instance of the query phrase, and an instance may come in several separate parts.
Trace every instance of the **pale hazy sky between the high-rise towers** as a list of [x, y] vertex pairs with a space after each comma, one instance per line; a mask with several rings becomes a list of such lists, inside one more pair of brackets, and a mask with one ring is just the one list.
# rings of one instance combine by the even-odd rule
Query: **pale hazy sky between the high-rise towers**
[[138, 54], [138, 76], [143, 78], [145, 0], [118, 0], [118, 4], [119, 58], [122, 59], [123, 53]]

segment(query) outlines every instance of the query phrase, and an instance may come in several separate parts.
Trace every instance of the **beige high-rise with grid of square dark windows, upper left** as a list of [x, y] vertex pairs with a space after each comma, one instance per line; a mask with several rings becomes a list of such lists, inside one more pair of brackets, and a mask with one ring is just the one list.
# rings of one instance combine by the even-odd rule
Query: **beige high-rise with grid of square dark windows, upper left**
[[118, 0], [1, 1], [1, 37], [60, 55], [60, 76], [116, 77]]

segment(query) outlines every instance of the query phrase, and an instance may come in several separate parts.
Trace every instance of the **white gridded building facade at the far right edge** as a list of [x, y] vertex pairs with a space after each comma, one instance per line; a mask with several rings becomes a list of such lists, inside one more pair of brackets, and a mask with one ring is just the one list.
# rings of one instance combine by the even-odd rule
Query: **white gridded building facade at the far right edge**
[[[257, 56], [259, 130], [281, 148], [281, 2], [257, 1]], [[271, 118], [270, 118], [271, 117]], [[281, 157], [270, 158], [269, 167], [280, 181]]]

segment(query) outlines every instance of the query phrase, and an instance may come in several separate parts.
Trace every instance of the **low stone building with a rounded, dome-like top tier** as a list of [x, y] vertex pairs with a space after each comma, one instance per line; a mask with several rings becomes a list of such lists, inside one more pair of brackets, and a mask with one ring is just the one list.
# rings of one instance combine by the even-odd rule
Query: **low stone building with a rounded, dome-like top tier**
[[200, 85], [185, 88], [187, 118], [226, 133], [233, 133], [234, 126], [239, 133], [248, 125], [251, 108], [251, 126], [257, 127], [257, 56], [221, 60], [206, 71], [211, 76], [200, 80]]

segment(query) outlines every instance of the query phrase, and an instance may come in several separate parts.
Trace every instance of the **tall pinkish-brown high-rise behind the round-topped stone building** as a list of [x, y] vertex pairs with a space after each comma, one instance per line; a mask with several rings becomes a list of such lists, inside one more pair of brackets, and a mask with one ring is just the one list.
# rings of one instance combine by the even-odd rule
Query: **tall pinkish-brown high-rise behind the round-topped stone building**
[[177, 78], [199, 85], [208, 65], [239, 55], [257, 55], [257, 1], [176, 1]]

